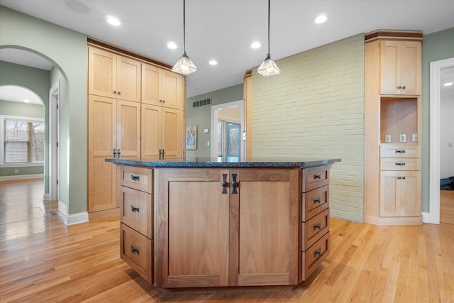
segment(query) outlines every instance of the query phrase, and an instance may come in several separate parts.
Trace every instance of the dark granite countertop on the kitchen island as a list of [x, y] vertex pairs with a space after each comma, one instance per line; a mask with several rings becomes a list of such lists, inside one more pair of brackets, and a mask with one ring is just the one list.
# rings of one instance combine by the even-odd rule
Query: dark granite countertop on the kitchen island
[[218, 162], [217, 158], [186, 158], [166, 160], [124, 160], [118, 158], [107, 158], [106, 162], [113, 162], [118, 165], [131, 165], [139, 167], [314, 167], [320, 165], [331, 165], [341, 162], [341, 159], [303, 159], [303, 158], [253, 158], [240, 162]]

